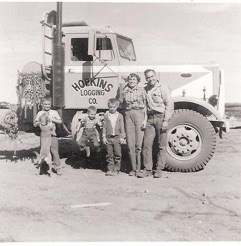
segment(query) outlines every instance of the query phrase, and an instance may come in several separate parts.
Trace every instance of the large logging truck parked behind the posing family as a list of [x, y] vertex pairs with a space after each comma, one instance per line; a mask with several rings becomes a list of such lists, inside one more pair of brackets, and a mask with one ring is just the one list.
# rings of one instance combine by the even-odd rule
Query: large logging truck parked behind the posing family
[[138, 65], [131, 38], [111, 27], [62, 22], [61, 4], [57, 11], [44, 14], [41, 26], [42, 63], [26, 64], [18, 80], [20, 117], [29, 131], [41, 97], [51, 95], [52, 106], [76, 139], [84, 110], [94, 105], [99, 114], [105, 112], [108, 99], [116, 97], [130, 73], [137, 73], [145, 86], [144, 71], [151, 68], [171, 89], [175, 105], [166, 168], [180, 172], [204, 168], [214, 154], [216, 138], [229, 129], [224, 74], [217, 64]]

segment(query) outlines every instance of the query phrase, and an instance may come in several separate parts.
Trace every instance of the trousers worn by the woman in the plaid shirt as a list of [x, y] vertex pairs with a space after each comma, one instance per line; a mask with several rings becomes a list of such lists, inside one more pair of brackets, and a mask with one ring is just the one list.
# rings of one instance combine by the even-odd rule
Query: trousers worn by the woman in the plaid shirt
[[141, 126], [144, 117], [143, 109], [131, 109], [125, 113], [126, 139], [132, 171], [140, 169], [141, 166], [140, 157], [144, 136], [144, 131], [141, 130]]

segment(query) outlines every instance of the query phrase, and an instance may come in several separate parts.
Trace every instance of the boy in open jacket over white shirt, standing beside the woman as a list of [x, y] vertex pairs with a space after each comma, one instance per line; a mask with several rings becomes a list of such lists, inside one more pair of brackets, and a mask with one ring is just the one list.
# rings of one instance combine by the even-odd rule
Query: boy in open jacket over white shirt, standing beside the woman
[[108, 171], [106, 176], [115, 176], [121, 167], [121, 144], [125, 143], [125, 129], [122, 114], [117, 112], [119, 101], [111, 98], [108, 101], [109, 110], [104, 115], [103, 143], [107, 147]]

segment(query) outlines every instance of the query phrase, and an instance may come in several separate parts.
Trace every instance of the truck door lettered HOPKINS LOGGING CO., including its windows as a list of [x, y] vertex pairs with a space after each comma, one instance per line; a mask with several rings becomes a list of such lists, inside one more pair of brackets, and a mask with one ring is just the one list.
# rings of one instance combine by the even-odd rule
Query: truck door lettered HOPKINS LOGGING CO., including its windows
[[94, 36], [90, 55], [89, 34], [66, 34], [65, 104], [66, 109], [86, 109], [90, 105], [106, 109], [118, 88], [118, 59], [112, 36]]

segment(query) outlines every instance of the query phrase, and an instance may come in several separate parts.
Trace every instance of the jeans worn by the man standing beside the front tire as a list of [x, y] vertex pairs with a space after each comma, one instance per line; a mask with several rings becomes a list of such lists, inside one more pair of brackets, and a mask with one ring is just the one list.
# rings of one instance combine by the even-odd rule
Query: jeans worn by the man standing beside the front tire
[[154, 114], [148, 117], [143, 143], [143, 159], [146, 170], [152, 170], [153, 168], [152, 146], [155, 136], [158, 139], [159, 151], [156, 170], [161, 170], [165, 167], [167, 132], [162, 132], [161, 130], [163, 119], [163, 114]]

